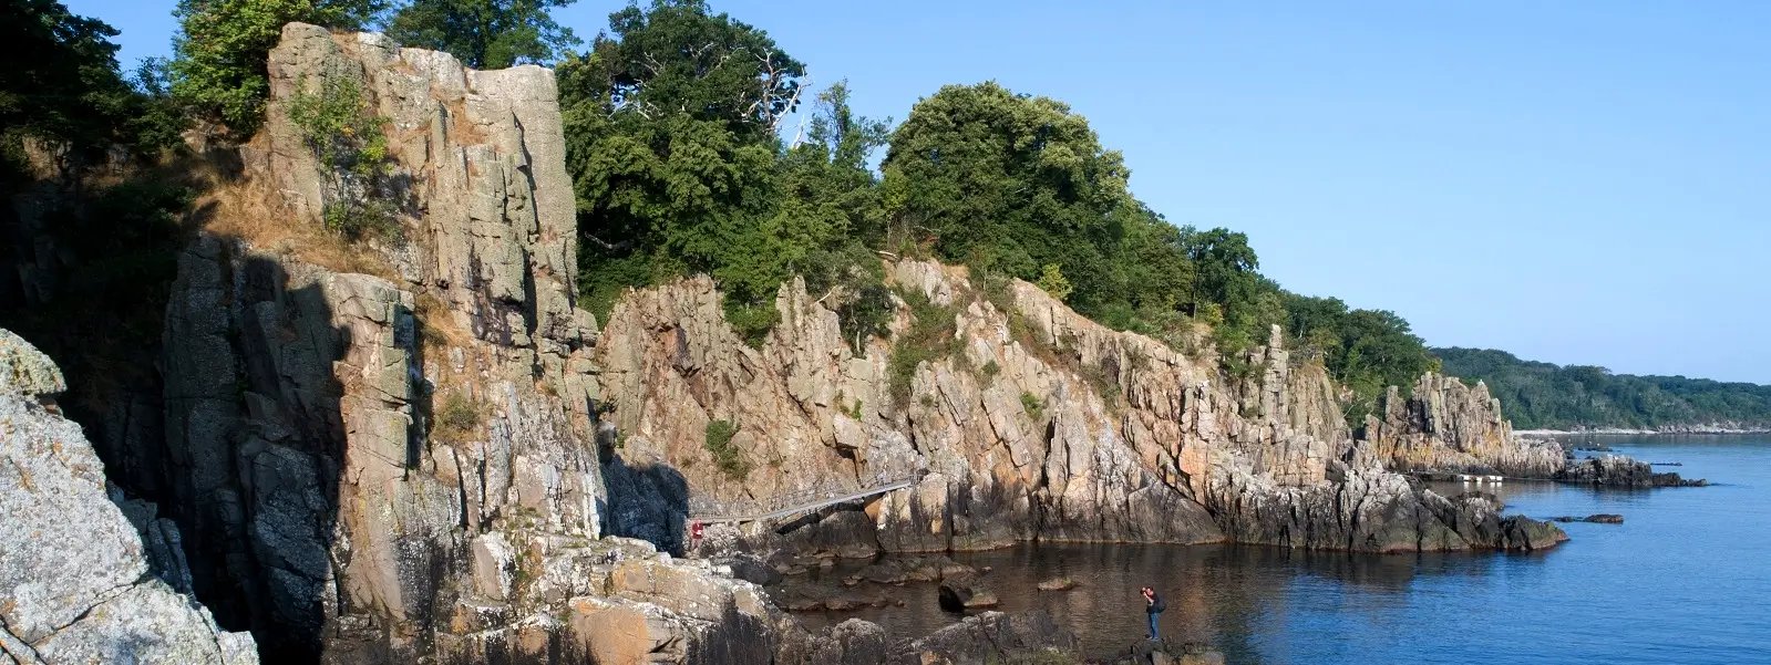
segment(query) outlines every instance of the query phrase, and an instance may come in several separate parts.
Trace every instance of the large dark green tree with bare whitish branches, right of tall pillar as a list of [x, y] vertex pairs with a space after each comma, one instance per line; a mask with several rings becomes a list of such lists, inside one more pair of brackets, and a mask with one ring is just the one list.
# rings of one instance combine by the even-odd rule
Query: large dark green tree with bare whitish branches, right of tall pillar
[[[804, 65], [762, 30], [659, 0], [609, 16], [590, 53], [560, 67], [567, 168], [579, 207], [579, 292], [592, 310], [669, 274], [708, 272], [728, 302], [774, 295], [788, 265], [831, 233], [776, 216], [779, 140]], [[767, 329], [772, 308], [739, 311]]]

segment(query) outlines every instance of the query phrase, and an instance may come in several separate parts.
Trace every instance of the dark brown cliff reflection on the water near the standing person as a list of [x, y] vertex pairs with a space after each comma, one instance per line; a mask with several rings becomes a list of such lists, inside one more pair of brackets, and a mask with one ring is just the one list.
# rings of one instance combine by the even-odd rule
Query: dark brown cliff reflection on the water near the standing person
[[[1144, 601], [1137, 589], [1156, 587], [1169, 610], [1162, 633], [1185, 642], [1211, 642], [1231, 661], [1261, 660], [1259, 624], [1282, 621], [1286, 598], [1339, 594], [1342, 610], [1383, 610], [1404, 603], [1419, 575], [1488, 575], [1495, 554], [1348, 555], [1241, 545], [1068, 545], [1029, 543], [1008, 550], [955, 554], [953, 559], [983, 573], [1001, 600], [999, 610], [1045, 608], [1061, 626], [1077, 631], [1084, 654], [1110, 656], [1144, 637]], [[813, 571], [813, 580], [839, 585], [862, 564]], [[1040, 591], [1059, 577], [1075, 580], [1068, 591]], [[806, 580], [811, 582], [811, 580]], [[800, 614], [809, 628], [850, 617], [878, 623], [894, 637], [926, 635], [960, 619], [939, 605], [937, 584], [878, 587], [901, 607], [857, 612]], [[1358, 592], [1342, 592], [1357, 587]]]

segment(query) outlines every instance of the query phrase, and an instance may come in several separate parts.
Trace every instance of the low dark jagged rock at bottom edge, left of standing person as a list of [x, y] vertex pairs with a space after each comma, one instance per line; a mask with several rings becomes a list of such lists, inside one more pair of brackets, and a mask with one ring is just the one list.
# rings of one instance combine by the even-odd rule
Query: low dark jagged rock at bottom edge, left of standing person
[[985, 665], [1029, 660], [1080, 660], [1077, 637], [1045, 610], [985, 612], [893, 647], [893, 665]]

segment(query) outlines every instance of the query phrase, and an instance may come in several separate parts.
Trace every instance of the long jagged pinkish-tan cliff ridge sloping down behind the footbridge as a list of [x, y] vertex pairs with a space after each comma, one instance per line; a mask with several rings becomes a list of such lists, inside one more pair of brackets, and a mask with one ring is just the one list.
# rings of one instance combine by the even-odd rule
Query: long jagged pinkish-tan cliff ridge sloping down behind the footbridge
[[[891, 341], [855, 352], [800, 283], [781, 288], [783, 322], [760, 350], [723, 324], [705, 278], [630, 294], [595, 354], [622, 456], [677, 469], [687, 492], [717, 502], [923, 470], [866, 506], [893, 552], [1034, 538], [1367, 552], [1560, 538], [1528, 538], [1528, 520], [1502, 520], [1489, 501], [1438, 497], [1385, 470], [1376, 446], [1353, 440], [1325, 371], [1293, 366], [1277, 331], [1249, 354], [1252, 375], [1224, 380], [1210, 350], [1114, 332], [1027, 283], [990, 295], [930, 262], [894, 264], [891, 281], [955, 318], [951, 354], [916, 368], [903, 403]], [[901, 306], [896, 329], [910, 317]], [[703, 446], [715, 419], [739, 426], [742, 478]], [[645, 520], [630, 511], [611, 529], [638, 534]]]

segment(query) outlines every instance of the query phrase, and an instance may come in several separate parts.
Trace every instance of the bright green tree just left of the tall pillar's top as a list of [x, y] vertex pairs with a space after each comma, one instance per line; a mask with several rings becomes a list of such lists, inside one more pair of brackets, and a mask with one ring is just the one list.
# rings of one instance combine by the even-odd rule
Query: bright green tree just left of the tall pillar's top
[[172, 94], [232, 136], [251, 136], [271, 90], [266, 58], [285, 23], [358, 30], [384, 7], [384, 0], [179, 0]]

